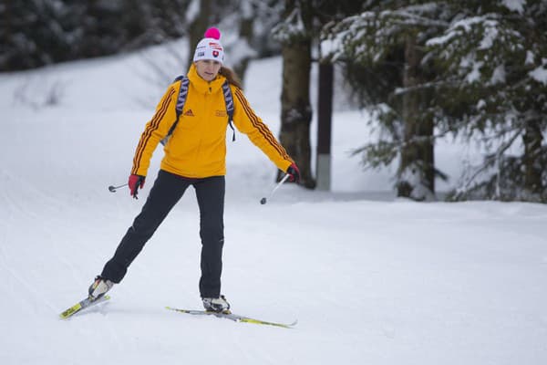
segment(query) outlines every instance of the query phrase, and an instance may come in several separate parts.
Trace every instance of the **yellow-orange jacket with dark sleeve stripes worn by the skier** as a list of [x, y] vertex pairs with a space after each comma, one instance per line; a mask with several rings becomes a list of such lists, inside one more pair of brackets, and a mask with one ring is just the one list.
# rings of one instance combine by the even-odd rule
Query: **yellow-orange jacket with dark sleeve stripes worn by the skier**
[[[190, 86], [179, 123], [166, 143], [160, 168], [184, 177], [203, 178], [226, 174], [226, 129], [228, 115], [222, 95], [225, 78], [208, 82], [194, 65], [188, 72]], [[161, 98], [153, 118], [142, 132], [133, 158], [132, 174], [146, 176], [152, 152], [167, 136], [177, 118], [175, 105], [181, 81], [172, 83]], [[233, 96], [233, 124], [246, 134], [282, 171], [293, 163], [269, 128], [254, 114], [243, 91], [230, 85]]]

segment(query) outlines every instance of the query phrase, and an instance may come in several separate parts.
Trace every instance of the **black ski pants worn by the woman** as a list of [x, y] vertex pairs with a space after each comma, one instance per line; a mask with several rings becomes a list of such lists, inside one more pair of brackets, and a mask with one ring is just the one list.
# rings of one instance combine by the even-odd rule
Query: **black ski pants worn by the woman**
[[224, 176], [189, 179], [160, 170], [142, 211], [122, 238], [101, 276], [119, 283], [142, 247], [156, 232], [186, 189], [196, 190], [200, 207], [201, 297], [221, 294], [222, 246], [224, 245]]

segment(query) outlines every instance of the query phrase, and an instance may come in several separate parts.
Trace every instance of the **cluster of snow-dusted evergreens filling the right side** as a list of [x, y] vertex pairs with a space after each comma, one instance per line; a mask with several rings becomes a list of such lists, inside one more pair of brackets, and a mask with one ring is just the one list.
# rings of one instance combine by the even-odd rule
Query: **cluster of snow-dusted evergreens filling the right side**
[[451, 133], [491, 151], [465, 172], [453, 198], [545, 201], [546, 7], [545, 0], [371, 2], [369, 11], [325, 27], [324, 39], [339, 45], [334, 59], [387, 69], [404, 54], [400, 86], [395, 71], [387, 98], [377, 100], [379, 141], [356, 150], [366, 167], [398, 158], [398, 194], [427, 198], [431, 170], [439, 175], [432, 143]]

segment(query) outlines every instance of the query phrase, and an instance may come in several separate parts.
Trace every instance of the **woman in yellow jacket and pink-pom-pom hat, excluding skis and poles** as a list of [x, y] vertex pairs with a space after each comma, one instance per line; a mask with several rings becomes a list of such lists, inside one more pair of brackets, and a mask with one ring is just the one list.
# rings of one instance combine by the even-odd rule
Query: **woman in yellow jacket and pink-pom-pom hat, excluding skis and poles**
[[[171, 208], [189, 186], [196, 191], [200, 209], [201, 278], [203, 307], [226, 311], [230, 304], [221, 295], [222, 247], [224, 244], [224, 175], [226, 173], [226, 129], [228, 102], [226, 89], [232, 93], [232, 120], [282, 171], [298, 182], [300, 172], [294, 161], [275, 139], [263, 121], [254, 114], [239, 81], [231, 69], [222, 66], [224, 49], [217, 28], [209, 28], [195, 49], [193, 63], [183, 79], [172, 83], [160, 100], [156, 112], [142, 132], [129, 176], [129, 192], [137, 198], [144, 186], [152, 152], [165, 143], [160, 172], [139, 215], [122, 238], [114, 256], [88, 289], [89, 298], [97, 300], [118, 284], [129, 265], [160, 226]], [[177, 103], [185, 90], [183, 110], [177, 123]], [[182, 91], [182, 90], [181, 90]]]

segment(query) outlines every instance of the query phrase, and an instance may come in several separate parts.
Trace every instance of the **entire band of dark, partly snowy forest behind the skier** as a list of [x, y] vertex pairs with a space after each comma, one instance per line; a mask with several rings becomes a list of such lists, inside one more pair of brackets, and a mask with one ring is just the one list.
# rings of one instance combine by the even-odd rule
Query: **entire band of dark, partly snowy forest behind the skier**
[[[317, 186], [312, 116], [329, 110], [310, 102], [317, 62], [326, 75], [335, 68], [350, 102], [374, 115], [374, 135], [348, 148], [364, 169], [390, 168], [397, 196], [439, 199], [436, 181], [448, 176], [436, 165], [435, 147], [451, 140], [473, 146], [478, 157], [461, 162], [446, 199], [547, 202], [545, 0], [2, 0], [0, 71], [180, 37], [193, 49], [208, 26], [222, 29], [228, 66], [242, 78], [251, 59], [283, 56], [279, 138], [305, 188]], [[150, 68], [165, 84], [172, 79], [158, 60]], [[42, 91], [55, 103], [61, 88]]]

